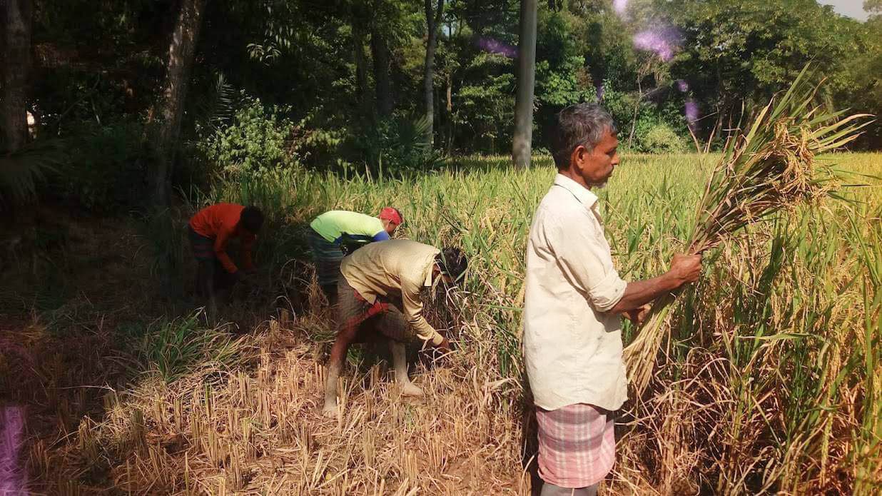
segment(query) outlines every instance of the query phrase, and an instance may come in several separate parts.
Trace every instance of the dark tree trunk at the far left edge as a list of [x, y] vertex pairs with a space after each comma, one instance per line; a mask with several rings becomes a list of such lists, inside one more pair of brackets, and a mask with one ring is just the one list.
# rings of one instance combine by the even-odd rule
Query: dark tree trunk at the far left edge
[[3, 94], [0, 98], [0, 127], [3, 145], [9, 152], [27, 141], [27, 79], [31, 66], [31, 0], [3, 0], [2, 53]]

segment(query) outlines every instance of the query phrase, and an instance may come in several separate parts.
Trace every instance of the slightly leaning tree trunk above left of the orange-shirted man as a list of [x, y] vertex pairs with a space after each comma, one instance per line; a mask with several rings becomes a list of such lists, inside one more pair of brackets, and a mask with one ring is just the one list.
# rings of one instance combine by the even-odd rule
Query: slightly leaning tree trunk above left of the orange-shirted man
[[153, 205], [170, 204], [169, 181], [175, 166], [177, 140], [181, 134], [183, 106], [190, 83], [193, 57], [206, 0], [182, 0], [175, 30], [168, 44], [166, 80], [154, 114], [150, 181]]

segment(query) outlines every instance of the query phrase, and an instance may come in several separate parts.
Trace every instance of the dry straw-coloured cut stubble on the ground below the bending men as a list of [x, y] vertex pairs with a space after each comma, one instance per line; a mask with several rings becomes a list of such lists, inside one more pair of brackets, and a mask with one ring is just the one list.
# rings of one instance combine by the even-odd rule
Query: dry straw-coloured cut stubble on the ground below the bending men
[[[507, 411], [512, 406], [498, 401], [505, 384], [483, 383], [455, 361], [421, 374], [417, 383], [427, 396], [420, 402], [400, 395], [385, 366], [360, 369], [344, 379], [340, 417], [322, 417], [325, 371], [306, 336], [326, 325], [326, 315], [298, 319], [294, 328], [272, 320], [263, 337], [276, 348], [264, 348], [254, 370], [224, 372], [209, 383], [203, 372], [174, 391], [144, 385], [115, 401], [117, 413], [93, 435], [105, 446], [131, 440], [111, 450], [128, 460], [114, 470], [116, 488], [487, 494], [516, 493], [526, 484], [510, 463], [519, 457], [519, 431], [512, 423], [518, 416]], [[84, 442], [71, 446], [80, 456]]]

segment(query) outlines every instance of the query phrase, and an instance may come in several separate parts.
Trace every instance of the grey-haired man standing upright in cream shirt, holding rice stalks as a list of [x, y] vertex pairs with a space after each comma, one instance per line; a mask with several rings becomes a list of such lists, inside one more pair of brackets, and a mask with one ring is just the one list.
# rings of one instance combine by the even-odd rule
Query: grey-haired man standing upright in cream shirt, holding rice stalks
[[700, 255], [675, 255], [654, 279], [624, 282], [613, 267], [598, 199], [619, 162], [616, 125], [600, 106], [573, 105], [551, 133], [554, 185], [527, 242], [524, 357], [539, 425], [542, 496], [588, 496], [612, 469], [614, 410], [627, 396], [620, 315], [698, 279]]

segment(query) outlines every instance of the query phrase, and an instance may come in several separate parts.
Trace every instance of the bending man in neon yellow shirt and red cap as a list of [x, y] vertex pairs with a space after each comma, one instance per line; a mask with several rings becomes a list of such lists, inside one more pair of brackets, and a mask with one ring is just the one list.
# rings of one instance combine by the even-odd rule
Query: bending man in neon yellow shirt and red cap
[[389, 239], [404, 219], [392, 207], [385, 207], [377, 217], [332, 210], [325, 212], [310, 223], [309, 241], [312, 258], [316, 263], [318, 285], [333, 304], [337, 297], [337, 280], [344, 248]]

